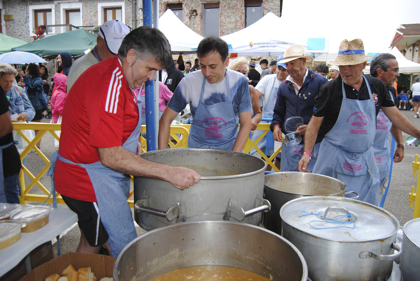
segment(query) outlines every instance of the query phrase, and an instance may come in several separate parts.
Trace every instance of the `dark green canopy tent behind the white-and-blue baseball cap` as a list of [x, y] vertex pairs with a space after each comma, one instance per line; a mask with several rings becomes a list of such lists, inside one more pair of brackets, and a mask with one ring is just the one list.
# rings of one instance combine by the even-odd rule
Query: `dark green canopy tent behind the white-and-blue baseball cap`
[[69, 52], [71, 55], [84, 55], [84, 51], [96, 45], [97, 36], [84, 29], [76, 29], [61, 34], [46, 36], [34, 42], [13, 48], [42, 56]]

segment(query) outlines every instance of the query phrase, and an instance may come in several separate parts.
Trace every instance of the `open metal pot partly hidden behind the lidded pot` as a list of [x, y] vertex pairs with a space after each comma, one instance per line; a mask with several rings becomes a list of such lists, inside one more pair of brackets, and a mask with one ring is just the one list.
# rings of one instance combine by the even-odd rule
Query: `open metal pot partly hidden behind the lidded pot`
[[[264, 198], [270, 201], [270, 211], [262, 214], [262, 225], [277, 234], [281, 231], [280, 208], [290, 200], [305, 196], [340, 196], [355, 193], [346, 192], [346, 184], [341, 180], [322, 174], [303, 172], [279, 172], [264, 177]], [[359, 197], [352, 197], [356, 199]]]

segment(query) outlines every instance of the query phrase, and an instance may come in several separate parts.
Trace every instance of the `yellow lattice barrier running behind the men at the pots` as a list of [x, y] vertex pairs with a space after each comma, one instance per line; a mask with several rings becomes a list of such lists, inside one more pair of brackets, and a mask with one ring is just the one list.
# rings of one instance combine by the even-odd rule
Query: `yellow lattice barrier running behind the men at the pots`
[[[41, 123], [41, 122], [29, 122], [29, 123], [23, 123], [23, 122], [16, 122], [13, 123], [13, 127], [16, 130], [16, 132], [24, 138], [24, 140], [29, 143], [29, 145], [22, 151], [20, 157], [21, 161], [29, 154], [29, 152], [34, 149], [42, 160], [45, 161], [45, 167], [42, 168], [41, 172], [39, 172], [38, 175], [34, 175], [28, 167], [22, 165], [21, 172], [19, 173], [19, 181], [21, 184], [21, 190], [22, 195], [20, 196], [21, 204], [26, 205], [27, 201], [31, 202], [44, 202], [48, 195], [50, 194], [50, 190], [48, 190], [39, 180], [41, 177], [47, 173], [48, 169], [50, 168], [50, 159], [45, 156], [42, 151], [39, 151], [36, 144], [37, 142], [47, 133], [49, 132], [55, 139], [58, 141], [60, 140], [60, 137], [55, 133], [55, 131], [61, 130], [61, 124], [52, 124], [52, 123]], [[189, 135], [189, 127], [190, 125], [171, 125], [171, 131], [170, 135], [174, 139], [173, 141], [168, 141], [168, 144], [171, 148], [183, 148], [188, 147], [188, 135]], [[35, 138], [30, 141], [24, 133], [21, 132], [21, 130], [39, 130], [40, 132], [38, 135], [35, 136]], [[267, 165], [270, 165], [273, 167], [273, 169], [276, 172], [279, 172], [277, 167], [273, 164], [273, 160], [275, 159], [276, 155], [281, 151], [281, 147], [278, 148], [273, 155], [268, 158], [265, 156], [265, 153], [263, 153], [260, 148], [258, 148], [257, 143], [262, 139], [262, 137], [267, 134], [270, 131], [270, 124], [258, 124], [257, 130], [264, 130], [262, 135], [253, 142], [250, 138], [247, 139], [247, 142], [244, 147], [244, 152], [248, 153], [251, 151], [252, 148], [255, 148], [258, 153], [261, 154], [262, 158], [267, 162]], [[146, 126], [142, 126], [142, 133], [146, 133]], [[178, 137], [179, 135], [179, 137]], [[141, 143], [142, 143], [142, 152], [147, 151], [147, 141], [145, 138], [141, 137]], [[31, 182], [29, 182], [28, 185], [25, 183], [24, 174], [27, 174], [30, 178]], [[131, 177], [131, 180], [133, 178]], [[33, 194], [30, 193], [32, 188], [37, 185], [44, 194]], [[63, 198], [61, 198], [59, 193], [56, 193], [57, 195], [57, 203], [64, 204]], [[131, 198], [134, 195], [134, 190], [131, 191], [129, 198]], [[49, 198], [47, 200], [47, 203], [53, 203], [53, 199]], [[134, 207], [134, 201], [128, 200], [128, 203], [131, 208]]]

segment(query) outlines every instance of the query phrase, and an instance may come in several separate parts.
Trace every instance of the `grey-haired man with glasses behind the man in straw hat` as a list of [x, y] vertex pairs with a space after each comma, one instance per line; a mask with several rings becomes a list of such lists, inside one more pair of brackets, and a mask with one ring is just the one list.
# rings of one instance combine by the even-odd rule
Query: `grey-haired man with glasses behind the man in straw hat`
[[[370, 64], [370, 75], [382, 80], [388, 90], [390, 98], [395, 102], [396, 91], [392, 86], [398, 73], [398, 62], [394, 55], [382, 53], [375, 57]], [[404, 158], [404, 141], [402, 140], [401, 130], [398, 129], [386, 117], [382, 109], [379, 110], [376, 116], [376, 134], [373, 141], [373, 152], [375, 154], [375, 161], [379, 168], [379, 195], [385, 192], [388, 185], [389, 170], [391, 169], [391, 157], [389, 154], [389, 132], [394, 136], [397, 147], [394, 153], [394, 163], [399, 163]]]

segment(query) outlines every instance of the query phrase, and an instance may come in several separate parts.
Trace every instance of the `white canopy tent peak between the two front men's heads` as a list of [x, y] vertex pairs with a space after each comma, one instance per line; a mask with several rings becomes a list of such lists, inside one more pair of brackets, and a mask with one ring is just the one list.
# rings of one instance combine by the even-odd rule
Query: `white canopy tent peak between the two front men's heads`
[[159, 18], [159, 29], [168, 38], [173, 54], [195, 53], [199, 42], [204, 38], [189, 29], [170, 9]]

